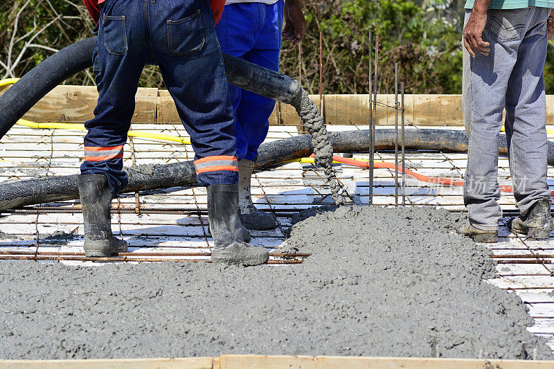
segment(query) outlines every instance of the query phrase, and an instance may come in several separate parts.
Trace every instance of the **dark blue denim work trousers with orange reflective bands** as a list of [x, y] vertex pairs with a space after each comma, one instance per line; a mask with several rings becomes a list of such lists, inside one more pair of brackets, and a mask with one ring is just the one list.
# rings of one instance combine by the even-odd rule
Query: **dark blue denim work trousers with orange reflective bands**
[[229, 99], [220, 46], [207, 0], [106, 0], [100, 10], [93, 69], [94, 118], [85, 123], [83, 174], [106, 174], [118, 193], [127, 186], [123, 145], [145, 64], [159, 65], [195, 150], [205, 186], [238, 182]]

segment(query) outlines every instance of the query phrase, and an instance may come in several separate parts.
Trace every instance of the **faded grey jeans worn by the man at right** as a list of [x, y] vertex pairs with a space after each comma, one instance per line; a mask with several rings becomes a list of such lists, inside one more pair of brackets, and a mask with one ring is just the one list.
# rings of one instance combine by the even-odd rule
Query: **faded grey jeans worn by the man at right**
[[[550, 9], [488, 10], [483, 39], [488, 56], [463, 50], [463, 116], [470, 147], [464, 203], [476, 228], [497, 229], [498, 147], [502, 111], [506, 109], [508, 159], [520, 213], [549, 196], [546, 184], [546, 19]], [[471, 10], [465, 12], [465, 24]]]

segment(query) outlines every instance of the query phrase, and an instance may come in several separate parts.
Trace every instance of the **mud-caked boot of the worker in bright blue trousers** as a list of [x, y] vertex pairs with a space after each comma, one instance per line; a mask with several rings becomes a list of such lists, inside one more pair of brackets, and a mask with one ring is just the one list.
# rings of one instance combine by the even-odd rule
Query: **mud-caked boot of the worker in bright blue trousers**
[[256, 209], [252, 202], [250, 180], [254, 162], [242, 159], [238, 162], [238, 207], [242, 225], [253, 231], [267, 231], [277, 227], [275, 215]]

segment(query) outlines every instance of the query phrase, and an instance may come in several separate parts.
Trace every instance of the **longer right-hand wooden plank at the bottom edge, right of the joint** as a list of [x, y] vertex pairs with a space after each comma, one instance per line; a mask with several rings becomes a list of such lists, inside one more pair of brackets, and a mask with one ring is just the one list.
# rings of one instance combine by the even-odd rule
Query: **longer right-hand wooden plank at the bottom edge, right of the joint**
[[532, 369], [553, 368], [554, 361], [488, 360], [488, 359], [431, 359], [395, 357], [305, 357], [222, 355], [221, 369]]

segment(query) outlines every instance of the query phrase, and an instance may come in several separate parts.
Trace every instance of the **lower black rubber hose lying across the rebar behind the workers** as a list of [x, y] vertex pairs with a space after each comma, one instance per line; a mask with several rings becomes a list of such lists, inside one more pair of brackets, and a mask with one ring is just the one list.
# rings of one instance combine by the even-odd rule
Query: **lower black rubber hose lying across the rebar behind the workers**
[[[366, 130], [329, 134], [334, 152], [367, 152], [369, 136]], [[506, 136], [500, 136], [500, 154], [506, 154]], [[394, 129], [377, 129], [376, 150], [393, 150]], [[447, 129], [406, 129], [406, 149], [442, 152], [467, 152], [464, 131]], [[310, 156], [312, 137], [301, 135], [264, 143], [260, 147], [256, 168], [265, 168], [289, 159]], [[554, 165], [554, 143], [548, 143], [548, 164]], [[190, 186], [196, 181], [193, 161], [184, 163], [142, 165], [127, 168], [129, 184], [123, 192], [156, 190]], [[77, 176], [42, 177], [27, 181], [0, 184], [0, 211], [52, 201], [78, 199]]]

